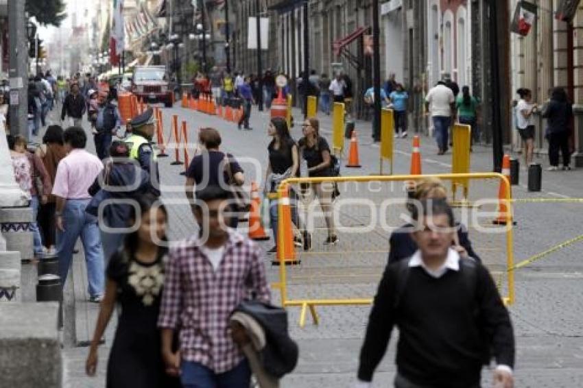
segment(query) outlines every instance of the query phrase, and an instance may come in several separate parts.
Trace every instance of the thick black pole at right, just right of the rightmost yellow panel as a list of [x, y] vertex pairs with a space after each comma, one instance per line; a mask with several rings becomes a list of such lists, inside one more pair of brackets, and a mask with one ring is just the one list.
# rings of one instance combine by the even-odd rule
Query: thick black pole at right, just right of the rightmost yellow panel
[[497, 23], [497, 0], [490, 0], [490, 7], [488, 8], [488, 20], [490, 22], [490, 66], [492, 77], [492, 156], [494, 158], [494, 171], [502, 171], [502, 114], [501, 101], [504, 101], [501, 96], [500, 86], [500, 60], [499, 60], [499, 43], [498, 43], [498, 23]]

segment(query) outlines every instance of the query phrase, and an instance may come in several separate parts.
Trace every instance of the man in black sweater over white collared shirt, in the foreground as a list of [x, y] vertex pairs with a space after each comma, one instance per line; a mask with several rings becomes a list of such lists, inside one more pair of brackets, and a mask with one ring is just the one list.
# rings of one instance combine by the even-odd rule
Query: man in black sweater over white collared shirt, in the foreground
[[370, 313], [357, 387], [371, 386], [393, 326], [397, 388], [477, 388], [492, 356], [496, 387], [512, 388], [514, 334], [488, 269], [451, 249], [453, 212], [428, 199], [413, 212], [419, 250], [389, 265]]

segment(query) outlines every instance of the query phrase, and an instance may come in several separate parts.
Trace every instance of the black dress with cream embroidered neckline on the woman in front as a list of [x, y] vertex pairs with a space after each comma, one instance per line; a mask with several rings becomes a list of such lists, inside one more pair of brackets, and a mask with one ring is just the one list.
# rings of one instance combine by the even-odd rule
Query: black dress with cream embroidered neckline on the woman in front
[[141, 263], [119, 250], [112, 255], [108, 278], [117, 283], [121, 306], [107, 365], [108, 388], [180, 387], [164, 371], [158, 313], [164, 284], [165, 251], [154, 263]]

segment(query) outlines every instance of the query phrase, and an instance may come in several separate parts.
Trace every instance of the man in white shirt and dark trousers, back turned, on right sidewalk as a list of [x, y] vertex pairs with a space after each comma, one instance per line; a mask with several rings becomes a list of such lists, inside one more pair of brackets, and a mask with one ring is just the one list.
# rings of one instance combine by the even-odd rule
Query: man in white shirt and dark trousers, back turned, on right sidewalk
[[429, 90], [425, 97], [425, 106], [431, 112], [433, 119], [433, 130], [435, 131], [438, 144], [438, 155], [447, 152], [448, 129], [451, 125], [451, 114], [455, 111], [455, 97], [450, 88], [445, 86], [445, 82], [440, 81]]

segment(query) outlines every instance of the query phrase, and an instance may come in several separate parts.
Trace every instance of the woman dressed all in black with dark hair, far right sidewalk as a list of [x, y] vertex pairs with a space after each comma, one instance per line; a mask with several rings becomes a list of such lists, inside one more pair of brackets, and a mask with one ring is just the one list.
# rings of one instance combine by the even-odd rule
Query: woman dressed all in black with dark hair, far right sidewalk
[[548, 170], [557, 171], [559, 169], [559, 150], [562, 154], [562, 169], [570, 170], [569, 127], [571, 119], [573, 119], [573, 108], [563, 88], [553, 89], [551, 101], [543, 109], [543, 117], [547, 119], [545, 137], [549, 141], [549, 162], [551, 162]]

